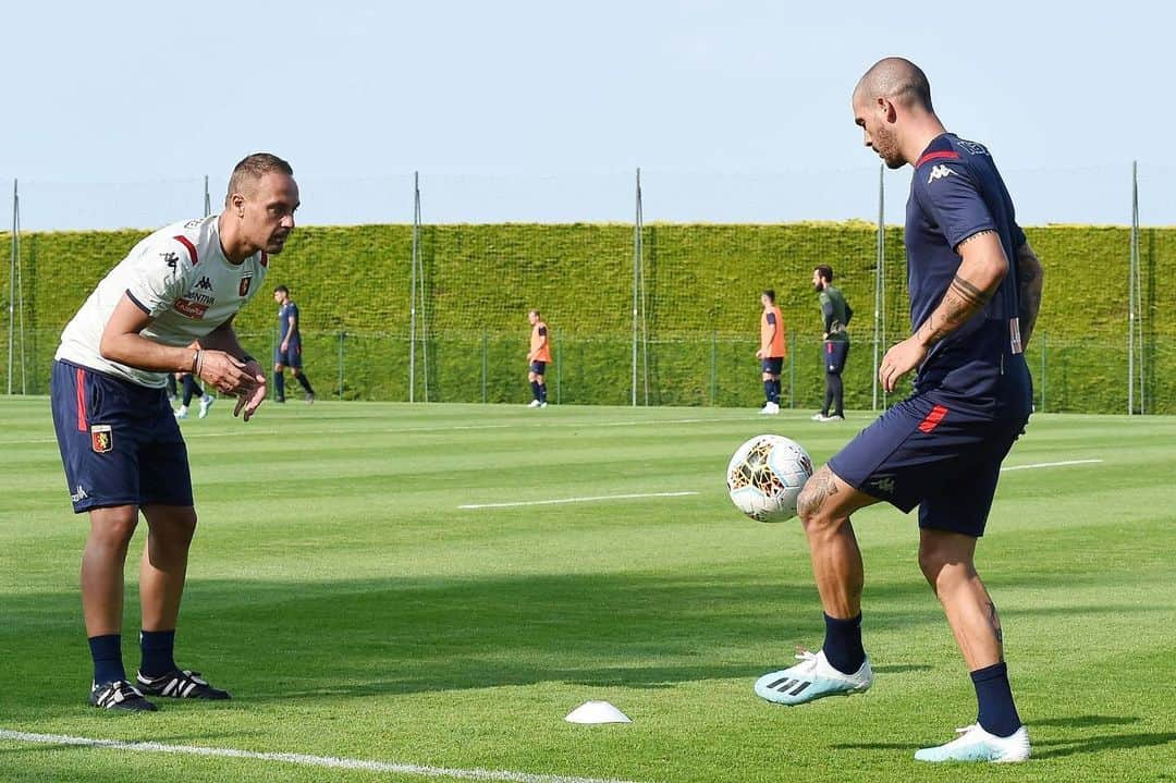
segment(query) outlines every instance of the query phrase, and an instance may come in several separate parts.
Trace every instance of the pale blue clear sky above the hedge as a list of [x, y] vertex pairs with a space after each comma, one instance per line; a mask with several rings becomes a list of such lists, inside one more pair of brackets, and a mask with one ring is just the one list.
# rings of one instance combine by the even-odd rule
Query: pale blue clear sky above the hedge
[[[849, 109], [900, 54], [993, 150], [1024, 225], [1176, 223], [1171, 4], [8, 4], [0, 208], [153, 227], [289, 160], [309, 225], [876, 220]], [[901, 223], [910, 169], [881, 176]], [[0, 225], [8, 222], [0, 218]]]

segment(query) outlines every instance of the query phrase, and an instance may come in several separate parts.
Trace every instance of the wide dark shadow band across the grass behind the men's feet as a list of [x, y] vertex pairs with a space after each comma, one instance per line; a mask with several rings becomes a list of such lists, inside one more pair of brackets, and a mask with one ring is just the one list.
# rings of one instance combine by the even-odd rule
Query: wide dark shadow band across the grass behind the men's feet
[[[871, 597], [901, 605], [923, 593], [910, 582], [881, 585]], [[5, 680], [22, 715], [45, 716], [83, 697], [81, 684], [60, 687], [62, 677], [88, 683], [76, 602], [72, 590], [20, 596], [6, 611], [0, 650], [11, 648], [18, 661]], [[135, 603], [128, 595], [128, 618]], [[889, 628], [942, 622], [930, 605], [875, 614]], [[176, 649], [181, 665], [249, 703], [543, 682], [660, 689], [757, 677], [790, 662], [795, 644], [818, 644], [820, 617], [811, 585], [759, 577], [193, 581]], [[125, 635], [131, 671], [136, 630], [132, 621]], [[777, 660], [764, 660], [766, 649]]]

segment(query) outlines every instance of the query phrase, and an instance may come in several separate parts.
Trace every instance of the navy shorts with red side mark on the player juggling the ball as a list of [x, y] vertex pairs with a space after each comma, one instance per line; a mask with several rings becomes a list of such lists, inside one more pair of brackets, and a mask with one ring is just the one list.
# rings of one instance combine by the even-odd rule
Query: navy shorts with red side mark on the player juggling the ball
[[829, 469], [903, 513], [918, 506], [921, 528], [978, 538], [1001, 462], [1027, 422], [1028, 414], [994, 417], [960, 396], [915, 394], [835, 454]]

